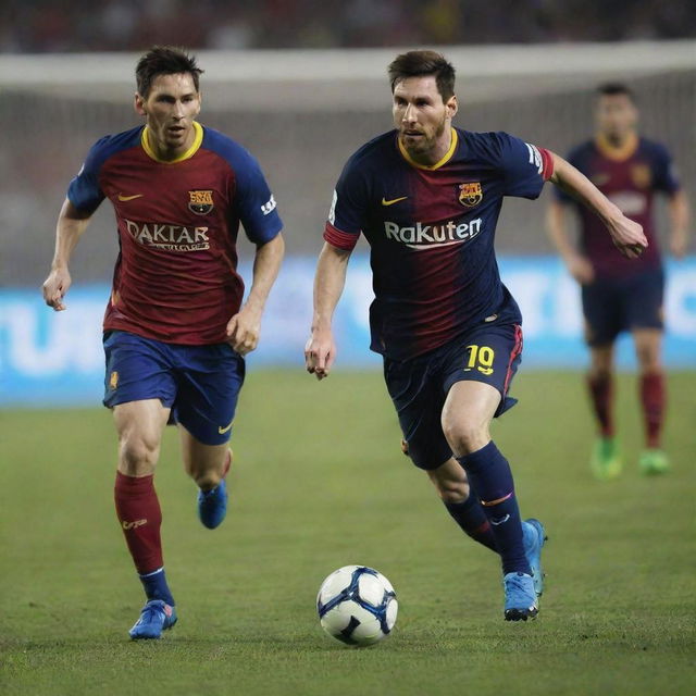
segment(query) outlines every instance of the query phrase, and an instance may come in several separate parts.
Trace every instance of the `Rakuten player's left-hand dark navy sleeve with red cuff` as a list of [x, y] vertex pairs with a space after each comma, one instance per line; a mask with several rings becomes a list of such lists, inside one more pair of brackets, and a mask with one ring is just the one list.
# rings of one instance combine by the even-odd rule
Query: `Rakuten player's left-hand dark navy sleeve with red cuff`
[[364, 178], [349, 160], [334, 189], [324, 239], [339, 249], [352, 249], [364, 227], [366, 210]]

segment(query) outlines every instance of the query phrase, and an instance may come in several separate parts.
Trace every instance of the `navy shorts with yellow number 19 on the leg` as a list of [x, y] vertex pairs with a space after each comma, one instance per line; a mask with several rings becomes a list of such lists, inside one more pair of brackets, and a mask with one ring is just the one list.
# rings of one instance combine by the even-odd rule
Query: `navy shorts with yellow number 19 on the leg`
[[498, 389], [497, 418], [517, 403], [508, 389], [521, 360], [522, 328], [518, 324], [484, 324], [413, 360], [385, 358], [384, 380], [413, 463], [437, 469], [452, 456], [440, 418], [455, 383], [471, 380]]

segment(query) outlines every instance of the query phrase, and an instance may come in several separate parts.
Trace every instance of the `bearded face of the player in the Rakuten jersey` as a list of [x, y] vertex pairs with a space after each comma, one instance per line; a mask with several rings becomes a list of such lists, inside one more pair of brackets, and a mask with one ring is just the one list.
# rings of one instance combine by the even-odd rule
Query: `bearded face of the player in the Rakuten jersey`
[[394, 125], [406, 151], [417, 162], [434, 164], [447, 152], [457, 97], [447, 102], [434, 75], [407, 77], [394, 88]]

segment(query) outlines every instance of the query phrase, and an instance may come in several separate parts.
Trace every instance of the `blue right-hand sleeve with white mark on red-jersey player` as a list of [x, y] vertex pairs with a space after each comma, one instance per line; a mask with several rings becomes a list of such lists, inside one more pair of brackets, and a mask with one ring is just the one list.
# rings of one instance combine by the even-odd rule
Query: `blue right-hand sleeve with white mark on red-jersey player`
[[244, 231], [253, 244], [271, 241], [283, 228], [275, 198], [257, 160], [245, 151], [235, 166], [235, 204]]

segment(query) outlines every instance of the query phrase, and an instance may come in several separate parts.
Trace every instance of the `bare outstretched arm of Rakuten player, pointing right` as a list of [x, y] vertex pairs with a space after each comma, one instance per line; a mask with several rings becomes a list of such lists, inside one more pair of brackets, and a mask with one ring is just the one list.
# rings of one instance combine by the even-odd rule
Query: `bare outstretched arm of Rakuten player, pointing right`
[[626, 217], [582, 172], [562, 157], [550, 152], [554, 173], [549, 181], [576, 198], [592, 210], [605, 224], [619, 251], [629, 259], [636, 259], [648, 246], [643, 227]]

